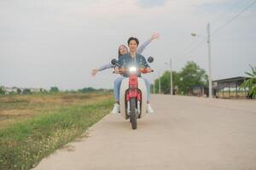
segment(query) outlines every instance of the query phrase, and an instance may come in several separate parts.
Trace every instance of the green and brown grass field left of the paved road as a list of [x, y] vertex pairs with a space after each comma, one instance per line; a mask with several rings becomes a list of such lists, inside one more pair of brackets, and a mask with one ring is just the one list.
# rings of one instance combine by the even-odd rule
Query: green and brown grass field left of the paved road
[[112, 94], [0, 97], [0, 169], [30, 169], [106, 116]]

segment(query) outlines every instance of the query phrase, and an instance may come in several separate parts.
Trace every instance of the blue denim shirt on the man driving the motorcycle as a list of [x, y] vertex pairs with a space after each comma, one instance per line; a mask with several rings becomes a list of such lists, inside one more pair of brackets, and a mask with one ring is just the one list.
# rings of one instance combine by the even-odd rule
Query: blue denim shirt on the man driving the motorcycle
[[[147, 60], [141, 54], [136, 54], [135, 58], [132, 58], [130, 53], [121, 55], [119, 57], [118, 63], [121, 67], [124, 67], [125, 69], [129, 69], [131, 66], [136, 66], [137, 69], [150, 67]], [[128, 77], [128, 75], [124, 74], [123, 77]], [[141, 73], [138, 73], [137, 77], [142, 77]]]

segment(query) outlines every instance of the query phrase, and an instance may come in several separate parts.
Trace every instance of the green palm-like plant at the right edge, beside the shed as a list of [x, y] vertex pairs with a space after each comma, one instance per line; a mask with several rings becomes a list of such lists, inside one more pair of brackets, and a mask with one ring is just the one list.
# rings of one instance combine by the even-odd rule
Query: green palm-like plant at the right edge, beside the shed
[[252, 72], [245, 72], [248, 76], [245, 82], [241, 83], [241, 88], [249, 88], [249, 96], [256, 96], [256, 66], [250, 65]]

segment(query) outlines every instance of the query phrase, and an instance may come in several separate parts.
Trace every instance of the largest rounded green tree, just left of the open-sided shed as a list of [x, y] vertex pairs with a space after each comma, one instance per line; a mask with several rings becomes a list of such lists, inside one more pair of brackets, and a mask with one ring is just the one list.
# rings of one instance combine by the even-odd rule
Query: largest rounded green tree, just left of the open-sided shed
[[208, 77], [206, 71], [201, 69], [194, 61], [189, 61], [179, 74], [179, 93], [189, 94], [193, 86], [207, 86]]

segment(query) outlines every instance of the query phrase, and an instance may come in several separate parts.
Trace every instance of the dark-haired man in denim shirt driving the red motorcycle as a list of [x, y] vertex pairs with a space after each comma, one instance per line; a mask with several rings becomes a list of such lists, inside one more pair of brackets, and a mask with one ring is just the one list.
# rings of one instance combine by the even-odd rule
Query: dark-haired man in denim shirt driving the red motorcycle
[[[128, 39], [128, 47], [130, 48], [130, 53], [124, 54], [119, 57], [119, 61], [118, 61], [119, 66], [116, 66], [114, 68], [115, 73], [120, 73], [120, 72], [122, 72], [121, 71], [122, 68], [127, 69], [131, 65], [136, 66], [137, 68], [146, 68], [148, 72], [152, 71], [152, 69], [148, 65], [147, 60], [143, 57], [143, 55], [137, 54], [138, 44], [139, 44], [139, 41], [136, 37], [130, 37]], [[118, 93], [115, 94], [115, 99], [116, 99], [117, 103], [113, 107], [113, 111], [112, 111], [113, 113], [119, 112], [119, 89], [120, 89], [120, 84], [125, 77], [128, 77], [128, 75], [124, 74], [123, 77], [118, 79], [119, 82], [115, 82], [115, 84], [114, 84], [115, 85], [114, 88], [117, 89], [116, 91]], [[141, 73], [138, 73], [137, 77], [141, 77]], [[151, 105], [149, 104], [150, 84], [149, 84], [148, 80], [146, 80], [145, 78], [143, 78], [143, 80], [147, 87], [147, 103], [148, 103], [147, 112], [153, 113], [154, 111], [153, 111]]]

